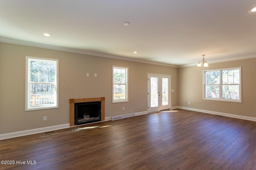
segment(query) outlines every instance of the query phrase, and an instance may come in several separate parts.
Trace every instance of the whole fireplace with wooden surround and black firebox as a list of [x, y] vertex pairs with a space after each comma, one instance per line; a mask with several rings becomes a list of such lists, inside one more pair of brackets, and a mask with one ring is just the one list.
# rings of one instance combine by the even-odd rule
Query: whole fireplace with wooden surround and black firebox
[[105, 120], [105, 97], [70, 99], [70, 126]]

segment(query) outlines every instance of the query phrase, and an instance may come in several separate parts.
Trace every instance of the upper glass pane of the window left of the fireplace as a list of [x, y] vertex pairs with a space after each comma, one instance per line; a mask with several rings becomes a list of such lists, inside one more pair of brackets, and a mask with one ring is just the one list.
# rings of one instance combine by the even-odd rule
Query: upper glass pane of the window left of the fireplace
[[30, 61], [30, 82], [55, 82], [55, 63]]

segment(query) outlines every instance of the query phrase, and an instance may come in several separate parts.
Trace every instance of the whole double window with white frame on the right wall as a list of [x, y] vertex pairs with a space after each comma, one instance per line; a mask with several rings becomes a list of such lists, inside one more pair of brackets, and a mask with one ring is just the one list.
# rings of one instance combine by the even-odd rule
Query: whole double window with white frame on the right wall
[[242, 102], [241, 67], [204, 70], [205, 100]]

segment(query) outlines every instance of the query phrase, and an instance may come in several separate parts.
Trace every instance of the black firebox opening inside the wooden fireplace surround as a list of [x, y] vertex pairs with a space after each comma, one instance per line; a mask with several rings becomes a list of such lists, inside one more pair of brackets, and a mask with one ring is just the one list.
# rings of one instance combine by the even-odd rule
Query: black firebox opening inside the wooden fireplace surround
[[75, 125], [101, 120], [101, 102], [75, 103]]

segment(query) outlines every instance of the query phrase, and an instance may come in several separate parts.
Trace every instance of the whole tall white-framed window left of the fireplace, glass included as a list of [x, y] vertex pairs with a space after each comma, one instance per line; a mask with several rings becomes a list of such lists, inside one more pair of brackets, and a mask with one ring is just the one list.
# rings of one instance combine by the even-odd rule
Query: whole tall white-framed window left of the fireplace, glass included
[[26, 57], [26, 111], [58, 107], [58, 60]]

